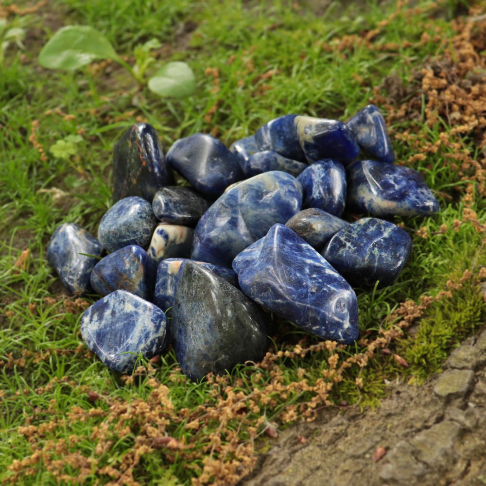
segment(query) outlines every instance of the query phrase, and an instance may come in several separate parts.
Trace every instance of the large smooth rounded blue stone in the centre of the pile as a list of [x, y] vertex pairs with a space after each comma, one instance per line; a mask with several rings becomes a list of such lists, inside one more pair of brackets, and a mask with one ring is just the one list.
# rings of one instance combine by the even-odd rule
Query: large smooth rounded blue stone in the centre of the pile
[[271, 171], [242, 181], [199, 220], [191, 258], [231, 267], [238, 253], [275, 223], [286, 223], [301, 204], [302, 185], [290, 174]]

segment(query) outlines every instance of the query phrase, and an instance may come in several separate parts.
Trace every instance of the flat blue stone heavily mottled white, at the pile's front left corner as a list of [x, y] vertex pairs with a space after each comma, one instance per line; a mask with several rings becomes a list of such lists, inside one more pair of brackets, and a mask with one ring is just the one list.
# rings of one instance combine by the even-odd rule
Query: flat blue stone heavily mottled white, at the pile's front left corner
[[150, 359], [163, 351], [169, 332], [165, 313], [156, 305], [116, 290], [83, 314], [81, 336], [108, 368], [130, 373], [139, 353]]

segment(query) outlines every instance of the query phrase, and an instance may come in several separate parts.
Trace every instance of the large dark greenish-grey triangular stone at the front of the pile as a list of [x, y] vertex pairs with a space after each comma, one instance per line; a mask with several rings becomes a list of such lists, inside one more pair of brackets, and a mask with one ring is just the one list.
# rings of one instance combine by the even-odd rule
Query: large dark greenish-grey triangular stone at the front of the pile
[[240, 290], [188, 260], [177, 277], [171, 338], [191, 380], [260, 361], [269, 346], [265, 314]]

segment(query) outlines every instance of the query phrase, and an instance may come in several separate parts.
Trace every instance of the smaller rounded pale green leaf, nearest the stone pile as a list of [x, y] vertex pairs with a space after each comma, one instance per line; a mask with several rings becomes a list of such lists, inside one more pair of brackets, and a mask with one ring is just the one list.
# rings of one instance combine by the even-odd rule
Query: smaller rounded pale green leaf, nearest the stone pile
[[185, 62], [170, 62], [149, 79], [148, 87], [159, 96], [184, 98], [196, 89], [192, 69]]

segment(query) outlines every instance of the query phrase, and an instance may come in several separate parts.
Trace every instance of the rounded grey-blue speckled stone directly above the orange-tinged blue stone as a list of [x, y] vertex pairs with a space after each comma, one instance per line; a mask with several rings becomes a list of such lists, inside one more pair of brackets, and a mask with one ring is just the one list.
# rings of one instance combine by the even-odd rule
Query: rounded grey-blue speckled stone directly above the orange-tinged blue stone
[[148, 201], [138, 196], [125, 197], [104, 213], [98, 227], [98, 240], [110, 252], [130, 244], [146, 248], [156, 224]]

